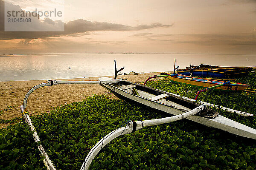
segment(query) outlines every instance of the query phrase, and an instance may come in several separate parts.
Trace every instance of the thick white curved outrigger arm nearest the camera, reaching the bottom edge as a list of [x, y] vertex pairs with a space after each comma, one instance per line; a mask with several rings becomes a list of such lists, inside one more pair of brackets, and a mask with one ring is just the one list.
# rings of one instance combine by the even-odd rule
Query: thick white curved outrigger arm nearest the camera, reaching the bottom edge
[[162, 119], [152, 119], [152, 120], [142, 120], [142, 121], [135, 121], [131, 122], [129, 121], [125, 127], [121, 127], [119, 129], [113, 130], [111, 133], [108, 133], [106, 136], [104, 136], [99, 142], [97, 142], [94, 147], [90, 150], [86, 158], [84, 159], [84, 162], [81, 166], [80, 170], [87, 170], [95, 158], [95, 156], [99, 153], [99, 151], [105, 147], [109, 142], [111, 142], [113, 139], [125, 135], [128, 133], [133, 133], [134, 131], [140, 130], [143, 127], [148, 126], [155, 126], [155, 125], [161, 125], [164, 123], [170, 123], [175, 122], [177, 120], [185, 119], [190, 116], [195, 115], [196, 113], [203, 111], [207, 106], [206, 105], [200, 105], [197, 108], [188, 111], [186, 113], [181, 113], [176, 116], [166, 117]]

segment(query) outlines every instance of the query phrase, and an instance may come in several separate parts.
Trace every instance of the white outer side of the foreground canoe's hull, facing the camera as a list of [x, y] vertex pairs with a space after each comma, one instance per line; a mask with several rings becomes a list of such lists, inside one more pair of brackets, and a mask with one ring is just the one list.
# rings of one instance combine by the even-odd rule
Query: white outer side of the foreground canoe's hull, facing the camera
[[[133, 84], [135, 84], [135, 83], [133, 83]], [[154, 108], [154, 109], [157, 109], [160, 111], [164, 111], [166, 113], [170, 113], [173, 115], [177, 115], [177, 114], [184, 113], [186, 111], [191, 110], [189, 108], [178, 109], [178, 108], [172, 107], [170, 105], [165, 105], [162, 102], [152, 101], [152, 100], [142, 97], [142, 96], [136, 96], [136, 95], [133, 95], [125, 90], [122, 90], [121, 88], [117, 88], [114, 85], [110, 85], [110, 84], [101, 84], [101, 85], [104, 88], [106, 88], [107, 90], [113, 92], [113, 94], [115, 94], [115, 95], [123, 96], [126, 99], [133, 100], [135, 102], [141, 103], [143, 105], [146, 105], [151, 108]], [[239, 122], [233, 121], [231, 119], [228, 119], [221, 115], [215, 117], [214, 119], [208, 119], [208, 118], [202, 117], [202, 116], [190, 116], [186, 119], [192, 120], [192, 121], [200, 123], [202, 125], [206, 125], [208, 127], [214, 127], [217, 129], [221, 129], [221, 130], [224, 130], [224, 131], [227, 131], [229, 133], [233, 133], [233, 134], [236, 134], [239, 136], [256, 139], [256, 130], [255, 129], [248, 127], [246, 125], [243, 125]]]

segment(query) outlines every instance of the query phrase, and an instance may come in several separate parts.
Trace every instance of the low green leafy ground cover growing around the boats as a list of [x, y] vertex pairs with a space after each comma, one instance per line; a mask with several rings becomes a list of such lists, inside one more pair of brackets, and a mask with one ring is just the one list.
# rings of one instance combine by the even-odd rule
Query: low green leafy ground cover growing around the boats
[[[248, 77], [256, 77], [251, 73]], [[247, 83], [246, 79], [238, 81]], [[248, 80], [250, 81], [250, 80]], [[254, 84], [253, 84], [254, 83]], [[251, 82], [255, 85], [255, 82]], [[201, 88], [152, 81], [148, 86], [194, 98]], [[199, 100], [256, 114], [256, 94], [208, 91]], [[219, 110], [218, 110], [219, 111]], [[256, 128], [256, 118], [219, 111]], [[170, 116], [144, 106], [93, 96], [61, 106], [50, 113], [31, 116], [45, 150], [58, 170], [80, 169], [90, 149], [124, 120]], [[22, 120], [0, 129], [1, 170], [45, 170], [32, 132]], [[91, 170], [229, 170], [256, 169], [255, 140], [182, 120], [146, 127], [114, 139], [93, 160]]]

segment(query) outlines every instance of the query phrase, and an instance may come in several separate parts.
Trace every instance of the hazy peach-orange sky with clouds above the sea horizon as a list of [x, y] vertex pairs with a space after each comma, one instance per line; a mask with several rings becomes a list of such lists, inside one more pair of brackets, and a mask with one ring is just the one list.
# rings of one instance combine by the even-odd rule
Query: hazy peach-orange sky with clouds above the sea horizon
[[[7, 2], [64, 31], [4, 31]], [[256, 0], [0, 0], [0, 54], [126, 52], [256, 54]]]

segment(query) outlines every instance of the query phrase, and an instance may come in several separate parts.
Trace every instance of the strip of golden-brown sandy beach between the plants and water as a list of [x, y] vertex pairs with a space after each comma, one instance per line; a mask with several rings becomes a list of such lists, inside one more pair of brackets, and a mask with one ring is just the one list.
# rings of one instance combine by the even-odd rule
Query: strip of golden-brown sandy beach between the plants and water
[[[131, 82], [144, 82], [148, 77], [159, 73], [145, 73], [139, 75], [121, 75], [117, 78], [127, 79]], [[110, 76], [113, 78], [113, 76]], [[61, 79], [61, 80], [97, 80], [99, 77], [79, 78], [79, 79]], [[26, 93], [35, 85], [47, 80], [31, 80], [31, 81], [9, 81], [0, 82], [0, 119], [14, 119], [22, 117], [20, 105]], [[98, 84], [61, 84], [38, 88], [28, 99], [27, 109], [30, 115], [48, 112], [57, 106], [69, 104], [72, 102], [80, 102], [87, 96], [106, 94], [108, 91]], [[113, 94], [109, 95], [113, 98]], [[8, 109], [9, 108], [9, 109]], [[6, 111], [3, 111], [7, 109]], [[0, 124], [0, 128], [6, 127], [8, 124]]]

